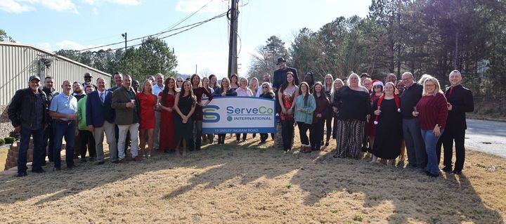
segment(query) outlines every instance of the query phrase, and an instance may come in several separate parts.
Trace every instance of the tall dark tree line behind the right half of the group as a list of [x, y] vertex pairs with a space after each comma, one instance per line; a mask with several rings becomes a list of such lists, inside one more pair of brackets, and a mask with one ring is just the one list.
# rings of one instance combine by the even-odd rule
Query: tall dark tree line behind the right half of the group
[[460, 70], [475, 95], [505, 95], [506, 2], [372, 0], [367, 17], [338, 17], [317, 31], [304, 27], [287, 48], [269, 37], [253, 55], [249, 77], [272, 73], [278, 57], [319, 81], [325, 74], [367, 72], [383, 80], [412, 72], [446, 85], [450, 71]]

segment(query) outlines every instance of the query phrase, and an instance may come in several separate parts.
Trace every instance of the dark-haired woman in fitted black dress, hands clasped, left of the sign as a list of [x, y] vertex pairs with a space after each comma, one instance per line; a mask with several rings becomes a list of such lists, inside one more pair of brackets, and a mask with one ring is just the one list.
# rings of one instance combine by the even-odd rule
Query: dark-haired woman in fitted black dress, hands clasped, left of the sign
[[183, 81], [181, 92], [176, 94], [176, 100], [174, 102], [174, 127], [176, 131], [176, 138], [174, 139], [177, 143], [176, 155], [179, 154], [179, 146], [181, 141], [183, 142], [183, 157], [186, 156], [186, 145], [190, 143], [192, 136], [192, 119], [191, 116], [195, 111], [195, 105], [197, 98], [193, 94], [192, 86], [190, 81]]

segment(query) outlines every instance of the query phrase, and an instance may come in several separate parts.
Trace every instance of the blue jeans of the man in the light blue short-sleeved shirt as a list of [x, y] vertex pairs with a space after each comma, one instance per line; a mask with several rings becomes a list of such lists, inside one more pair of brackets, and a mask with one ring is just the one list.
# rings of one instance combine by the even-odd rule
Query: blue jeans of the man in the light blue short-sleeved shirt
[[74, 140], [75, 140], [75, 124], [74, 121], [70, 122], [54, 122], [54, 149], [53, 160], [55, 168], [61, 168], [60, 150], [62, 145], [62, 138], [65, 137], [65, 162], [67, 167], [74, 166]]

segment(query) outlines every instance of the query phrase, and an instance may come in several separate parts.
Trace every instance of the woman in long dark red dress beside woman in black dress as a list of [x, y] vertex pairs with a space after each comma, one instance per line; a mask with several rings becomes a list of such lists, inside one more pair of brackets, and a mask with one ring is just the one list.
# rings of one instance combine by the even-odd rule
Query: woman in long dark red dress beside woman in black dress
[[165, 153], [174, 151], [174, 96], [179, 92], [176, 80], [169, 77], [164, 81], [165, 88], [158, 95], [160, 109], [162, 109], [162, 123], [160, 125], [160, 150]]

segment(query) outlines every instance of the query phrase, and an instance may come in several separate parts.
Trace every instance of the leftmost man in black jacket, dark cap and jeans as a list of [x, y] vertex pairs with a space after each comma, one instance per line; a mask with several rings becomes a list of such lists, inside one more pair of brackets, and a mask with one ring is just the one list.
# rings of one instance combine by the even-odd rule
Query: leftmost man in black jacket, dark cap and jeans
[[14, 131], [20, 133], [18, 148], [18, 177], [27, 176], [27, 152], [30, 136], [33, 136], [32, 172], [44, 173], [42, 156], [44, 155], [44, 127], [47, 124], [46, 93], [39, 89], [40, 78], [33, 75], [29, 79], [29, 88], [23, 88], [14, 94], [8, 107], [8, 117]]

